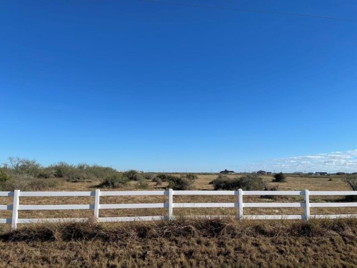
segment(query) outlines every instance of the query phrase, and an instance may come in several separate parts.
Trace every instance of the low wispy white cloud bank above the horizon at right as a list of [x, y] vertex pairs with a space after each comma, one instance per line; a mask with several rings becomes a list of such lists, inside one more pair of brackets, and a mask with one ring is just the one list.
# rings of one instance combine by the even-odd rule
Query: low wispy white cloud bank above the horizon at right
[[268, 159], [262, 163], [247, 165], [244, 169], [275, 170], [276, 172], [357, 172], [357, 149], [346, 152], [331, 152], [302, 155], [288, 158]]

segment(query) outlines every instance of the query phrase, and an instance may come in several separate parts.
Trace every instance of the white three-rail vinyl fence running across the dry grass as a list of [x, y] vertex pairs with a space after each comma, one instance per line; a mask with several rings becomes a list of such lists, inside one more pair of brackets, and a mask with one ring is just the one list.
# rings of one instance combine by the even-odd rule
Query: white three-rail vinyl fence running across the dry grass
[[[167, 195], [167, 203], [141, 203], [141, 204], [100, 204], [101, 196], [127, 196], [127, 195]], [[235, 203], [174, 203], [174, 195], [235, 195]], [[294, 203], [243, 203], [243, 195], [302, 195], [303, 202]], [[44, 218], [44, 219], [19, 219], [19, 210], [59, 210], [59, 209], [92, 209], [94, 218], [99, 222], [121, 222], [135, 220], [169, 220], [174, 218], [174, 208], [237, 208], [237, 218], [242, 219], [305, 219], [309, 218], [348, 218], [357, 217], [357, 214], [328, 214], [310, 215], [310, 208], [318, 207], [357, 207], [357, 202], [350, 203], [310, 203], [310, 195], [357, 195], [353, 191], [100, 191], [93, 192], [0, 192], [2, 197], [13, 197], [12, 205], [0, 205], [0, 210], [12, 210], [12, 218], [0, 219], [0, 223], [11, 224], [16, 229], [17, 223], [39, 222], [82, 222], [87, 218]], [[94, 204], [83, 205], [21, 205], [20, 197], [90, 197], [94, 196]], [[127, 209], [127, 208], [167, 208], [166, 216], [140, 216], [140, 217], [99, 217], [99, 209]], [[244, 215], [243, 208], [303, 208], [302, 215]], [[194, 216], [195, 217], [195, 216]], [[223, 217], [223, 216], [196, 216], [196, 217]]]

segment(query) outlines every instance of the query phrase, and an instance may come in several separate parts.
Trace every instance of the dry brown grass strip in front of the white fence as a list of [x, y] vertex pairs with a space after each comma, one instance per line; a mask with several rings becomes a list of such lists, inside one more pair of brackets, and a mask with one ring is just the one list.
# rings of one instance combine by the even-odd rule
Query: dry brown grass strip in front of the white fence
[[1, 267], [355, 267], [357, 219], [23, 225]]

